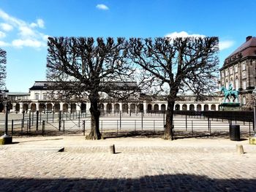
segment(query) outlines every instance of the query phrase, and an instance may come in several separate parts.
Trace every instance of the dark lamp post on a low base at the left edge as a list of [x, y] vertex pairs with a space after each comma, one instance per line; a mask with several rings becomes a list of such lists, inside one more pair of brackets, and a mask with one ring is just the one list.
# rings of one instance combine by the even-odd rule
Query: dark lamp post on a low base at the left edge
[[0, 144], [6, 145], [12, 143], [12, 137], [8, 135], [8, 98], [7, 98], [7, 91], [4, 91], [3, 100], [4, 100], [4, 107], [5, 107], [5, 123], [4, 123], [4, 135], [0, 138]]

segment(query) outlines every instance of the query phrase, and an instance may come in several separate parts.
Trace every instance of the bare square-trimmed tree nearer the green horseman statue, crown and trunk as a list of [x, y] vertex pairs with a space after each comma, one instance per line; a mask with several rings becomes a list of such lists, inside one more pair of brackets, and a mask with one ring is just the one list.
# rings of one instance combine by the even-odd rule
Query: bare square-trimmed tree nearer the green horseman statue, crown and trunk
[[153, 91], [166, 96], [164, 139], [173, 139], [173, 109], [177, 93], [212, 93], [218, 71], [217, 37], [129, 40], [129, 58], [140, 66]]

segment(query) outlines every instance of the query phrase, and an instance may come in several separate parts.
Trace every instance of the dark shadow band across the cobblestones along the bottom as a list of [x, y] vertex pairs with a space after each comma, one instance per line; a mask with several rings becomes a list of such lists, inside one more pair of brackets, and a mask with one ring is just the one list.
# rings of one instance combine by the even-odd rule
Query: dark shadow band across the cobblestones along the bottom
[[256, 179], [213, 179], [195, 174], [139, 178], [1, 178], [0, 191], [255, 191]]

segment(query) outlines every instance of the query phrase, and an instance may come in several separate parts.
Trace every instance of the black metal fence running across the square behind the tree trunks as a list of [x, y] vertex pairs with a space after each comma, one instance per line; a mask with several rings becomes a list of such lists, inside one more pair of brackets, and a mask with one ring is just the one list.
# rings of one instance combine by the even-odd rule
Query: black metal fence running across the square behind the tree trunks
[[[174, 131], [213, 131], [228, 130], [229, 124], [237, 121], [244, 126], [242, 131], [251, 134], [254, 131], [253, 112], [195, 112], [175, 111]], [[23, 113], [21, 119], [9, 120], [9, 133], [20, 134], [85, 134], [90, 128], [90, 116], [86, 112], [58, 112], [58, 113]], [[114, 119], [112, 119], [114, 116]], [[218, 123], [219, 122], [219, 123]], [[4, 120], [0, 120], [0, 131], [4, 131]], [[121, 131], [164, 131], [165, 112], [162, 113], [137, 113], [129, 117], [129, 114], [116, 113], [108, 119], [108, 115], [101, 116], [99, 128], [102, 132], [115, 130]]]

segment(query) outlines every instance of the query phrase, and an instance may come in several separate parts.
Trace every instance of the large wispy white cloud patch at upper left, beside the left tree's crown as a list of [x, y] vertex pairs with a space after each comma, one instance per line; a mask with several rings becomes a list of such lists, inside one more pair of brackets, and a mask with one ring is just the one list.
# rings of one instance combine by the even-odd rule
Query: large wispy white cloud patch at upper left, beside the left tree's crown
[[[1, 23], [1, 28], [4, 31], [15, 30], [17, 32], [14, 36], [12, 33], [11, 42], [2, 42], [2, 47], [12, 46], [12, 47], [45, 47], [47, 43], [48, 35], [43, 34], [37, 30], [37, 28], [44, 28], [45, 23], [42, 19], [37, 19], [34, 23], [27, 23], [24, 20], [12, 17], [0, 9], [0, 21], [3, 20], [4, 23]], [[2, 34], [3, 36], [3, 34]], [[0, 34], [1, 37], [1, 34]]]

